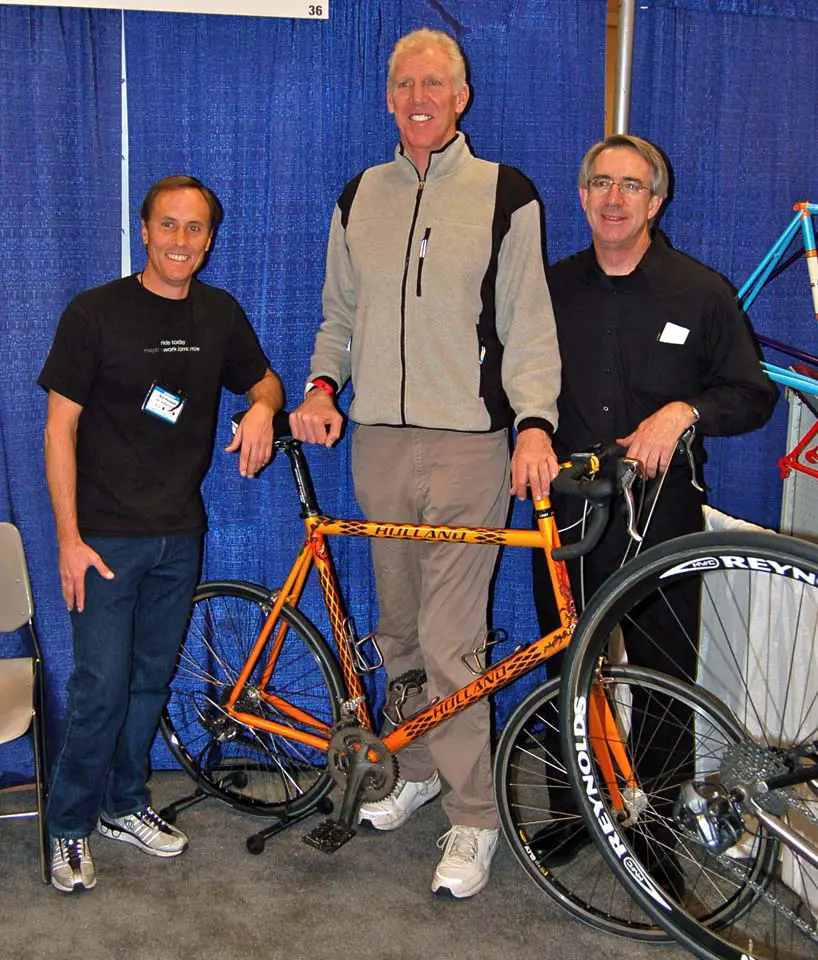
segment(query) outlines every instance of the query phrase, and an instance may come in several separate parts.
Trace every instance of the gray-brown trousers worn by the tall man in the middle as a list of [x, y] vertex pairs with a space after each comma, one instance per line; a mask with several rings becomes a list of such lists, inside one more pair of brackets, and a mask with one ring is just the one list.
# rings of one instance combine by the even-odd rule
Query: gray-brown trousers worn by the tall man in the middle
[[[501, 527], [509, 506], [508, 435], [415, 427], [357, 426], [355, 494], [368, 520]], [[417, 713], [474, 679], [461, 657], [486, 633], [496, 547], [372, 540], [380, 616], [378, 643], [389, 679], [425, 669], [428, 684], [407, 701]], [[453, 824], [496, 827], [488, 701], [469, 707], [398, 754], [405, 780], [438, 769]]]

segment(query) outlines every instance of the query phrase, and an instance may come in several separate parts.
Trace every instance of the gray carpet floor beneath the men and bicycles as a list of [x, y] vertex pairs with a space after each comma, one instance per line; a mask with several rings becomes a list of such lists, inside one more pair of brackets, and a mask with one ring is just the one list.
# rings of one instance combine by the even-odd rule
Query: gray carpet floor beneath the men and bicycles
[[[152, 781], [158, 808], [188, 792]], [[33, 821], [0, 821], [2, 960], [682, 960], [686, 952], [574, 920], [523, 873], [501, 840], [489, 886], [471, 900], [431, 893], [447, 828], [439, 803], [393, 833], [360, 831], [327, 856], [302, 842], [320, 816], [268, 841], [265, 824], [214, 800], [179, 814], [184, 856], [157, 860], [95, 836], [95, 890], [60, 894], [39, 878]]]

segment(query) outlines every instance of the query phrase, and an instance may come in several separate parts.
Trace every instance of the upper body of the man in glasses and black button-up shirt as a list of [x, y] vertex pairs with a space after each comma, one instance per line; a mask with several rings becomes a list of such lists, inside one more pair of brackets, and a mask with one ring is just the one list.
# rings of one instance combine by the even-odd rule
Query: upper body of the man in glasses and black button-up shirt
[[[548, 273], [563, 358], [558, 452], [620, 440], [650, 476], [692, 423], [745, 433], [777, 398], [727, 283], [661, 234], [651, 240], [666, 192], [652, 145], [614, 136], [594, 146], [579, 190], [593, 244]], [[700, 440], [697, 452], [703, 461]]]

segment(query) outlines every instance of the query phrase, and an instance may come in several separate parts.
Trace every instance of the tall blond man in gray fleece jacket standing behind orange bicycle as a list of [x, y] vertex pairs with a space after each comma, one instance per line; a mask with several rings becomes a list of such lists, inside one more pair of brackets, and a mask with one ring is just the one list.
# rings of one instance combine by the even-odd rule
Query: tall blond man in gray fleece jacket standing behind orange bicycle
[[[510, 490], [547, 492], [560, 382], [540, 207], [516, 170], [478, 160], [457, 121], [469, 101], [463, 55], [418, 30], [389, 61], [392, 162], [344, 188], [330, 226], [324, 320], [295, 436], [339, 437], [336, 394], [352, 380], [355, 492], [372, 520], [503, 526]], [[509, 430], [516, 428], [509, 458]], [[493, 548], [375, 540], [378, 640], [391, 685], [428, 680], [414, 713], [472, 679], [462, 657], [486, 633]], [[416, 675], [416, 674], [412, 674]], [[489, 705], [481, 702], [399, 754], [400, 779], [359, 814], [400, 827], [448, 791], [452, 824], [432, 890], [470, 897], [497, 845]]]

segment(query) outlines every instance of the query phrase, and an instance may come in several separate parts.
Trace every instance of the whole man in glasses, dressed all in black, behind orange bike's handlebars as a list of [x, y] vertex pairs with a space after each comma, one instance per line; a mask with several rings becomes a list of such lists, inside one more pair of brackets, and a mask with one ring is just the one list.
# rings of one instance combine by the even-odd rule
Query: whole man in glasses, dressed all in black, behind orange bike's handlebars
[[[593, 243], [548, 272], [562, 356], [554, 448], [564, 460], [596, 442], [616, 440], [651, 478], [670, 466], [646, 546], [703, 529], [704, 497], [691, 485], [685, 457], [678, 453], [680, 435], [696, 424], [693, 450], [701, 474], [705, 454], [700, 435], [755, 430], [769, 419], [778, 396], [762, 372], [749, 325], [728, 284], [673, 250], [661, 234], [651, 236], [651, 221], [667, 191], [667, 167], [652, 144], [624, 135], [595, 144], [579, 174], [580, 202]], [[581, 520], [581, 504], [555, 494], [554, 506], [561, 528]], [[582, 571], [579, 563], [570, 571], [579, 606], [580, 585], [589, 599], [622, 562], [628, 544], [625, 522], [618, 510], [612, 514], [599, 546], [582, 561]], [[563, 539], [572, 542], [579, 536], [577, 526]], [[545, 633], [554, 627], [553, 598], [544, 557], [537, 554], [534, 593]], [[698, 585], [673, 589], [674, 610], [652, 611], [650, 628], [641, 620], [636, 629], [626, 627], [625, 646], [631, 662], [695, 679]], [[659, 631], [661, 646], [651, 642], [648, 630], [654, 637]], [[549, 660], [552, 675], [560, 659]], [[657, 751], [685, 747], [679, 742], [668, 748], [659, 733], [654, 740]], [[558, 791], [552, 793], [555, 815], [572, 812], [570, 801], [561, 804]], [[543, 831], [541, 847], [553, 851], [556, 865], [583, 841], [571, 820], [557, 819]], [[680, 877], [677, 865], [671, 863], [666, 872], [670, 879], [659, 880], [673, 887]]]

